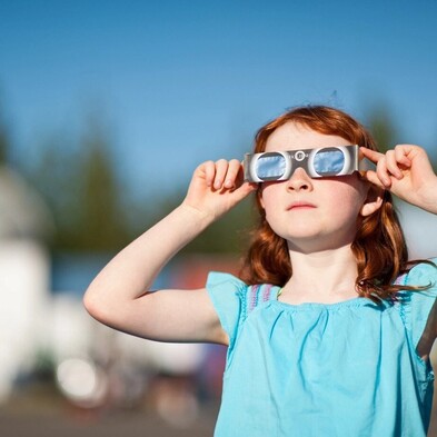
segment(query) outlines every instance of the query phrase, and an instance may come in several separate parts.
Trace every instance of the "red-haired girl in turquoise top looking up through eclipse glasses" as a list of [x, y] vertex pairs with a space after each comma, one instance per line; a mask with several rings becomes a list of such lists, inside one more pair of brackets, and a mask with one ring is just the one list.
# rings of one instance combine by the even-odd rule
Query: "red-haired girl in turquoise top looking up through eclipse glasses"
[[[376, 170], [319, 178], [305, 165], [315, 149], [349, 145]], [[97, 276], [88, 311], [148, 339], [227, 345], [216, 436], [425, 436], [437, 269], [408, 262], [390, 192], [437, 213], [427, 155], [410, 145], [383, 155], [328, 107], [266, 125], [255, 152], [292, 166], [278, 177], [275, 159], [266, 173], [246, 165], [261, 178], [248, 182], [239, 160], [200, 165], [182, 203]], [[171, 257], [251, 192], [260, 221], [240, 278], [212, 272], [202, 289], [150, 291]]]

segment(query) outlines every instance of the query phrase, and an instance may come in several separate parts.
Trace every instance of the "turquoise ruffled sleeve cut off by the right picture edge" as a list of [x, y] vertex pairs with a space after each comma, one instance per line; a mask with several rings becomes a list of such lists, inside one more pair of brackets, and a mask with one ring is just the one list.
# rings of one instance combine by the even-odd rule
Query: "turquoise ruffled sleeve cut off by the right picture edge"
[[[433, 259], [433, 261], [437, 265], [437, 259]], [[401, 298], [401, 315], [416, 348], [437, 298], [437, 268], [431, 265], [419, 264], [399, 282], [408, 286], [429, 286], [424, 291], [401, 292], [404, 295]]]

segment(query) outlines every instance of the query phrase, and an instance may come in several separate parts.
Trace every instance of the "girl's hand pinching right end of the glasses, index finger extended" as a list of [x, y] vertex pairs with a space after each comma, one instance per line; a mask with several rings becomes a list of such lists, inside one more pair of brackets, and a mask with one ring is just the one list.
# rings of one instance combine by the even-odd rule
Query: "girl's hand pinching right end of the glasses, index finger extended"
[[437, 176], [421, 147], [399, 145], [385, 155], [364, 147], [360, 150], [377, 166], [376, 171], [365, 172], [368, 181], [411, 205], [437, 213]]

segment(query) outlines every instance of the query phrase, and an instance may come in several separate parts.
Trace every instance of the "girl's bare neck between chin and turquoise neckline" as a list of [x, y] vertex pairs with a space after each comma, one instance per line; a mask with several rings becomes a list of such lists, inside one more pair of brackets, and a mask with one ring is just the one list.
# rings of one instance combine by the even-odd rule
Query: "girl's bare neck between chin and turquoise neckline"
[[289, 304], [334, 304], [357, 297], [357, 262], [350, 246], [302, 254], [289, 250], [292, 276], [282, 289]]

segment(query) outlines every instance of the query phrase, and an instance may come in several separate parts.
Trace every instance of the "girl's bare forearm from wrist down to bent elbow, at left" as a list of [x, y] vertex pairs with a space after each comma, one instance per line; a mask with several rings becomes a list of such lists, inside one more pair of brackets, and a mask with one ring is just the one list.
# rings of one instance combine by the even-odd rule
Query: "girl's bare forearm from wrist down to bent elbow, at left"
[[166, 264], [212, 221], [212, 217], [182, 203], [121, 250], [92, 281], [88, 297], [140, 297]]

